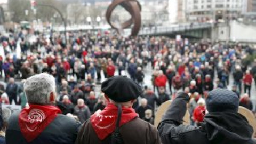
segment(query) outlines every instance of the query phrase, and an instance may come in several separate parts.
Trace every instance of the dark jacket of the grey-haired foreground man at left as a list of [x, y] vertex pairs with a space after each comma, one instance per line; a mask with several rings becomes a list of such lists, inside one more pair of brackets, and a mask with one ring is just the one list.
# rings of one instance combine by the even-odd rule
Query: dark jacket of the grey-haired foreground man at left
[[[6, 130], [7, 144], [27, 144], [28, 142], [22, 136], [19, 126], [19, 113], [14, 113], [9, 119], [9, 125]], [[75, 119], [59, 114], [50, 125], [29, 144], [72, 144], [75, 143], [78, 128], [81, 123]]]

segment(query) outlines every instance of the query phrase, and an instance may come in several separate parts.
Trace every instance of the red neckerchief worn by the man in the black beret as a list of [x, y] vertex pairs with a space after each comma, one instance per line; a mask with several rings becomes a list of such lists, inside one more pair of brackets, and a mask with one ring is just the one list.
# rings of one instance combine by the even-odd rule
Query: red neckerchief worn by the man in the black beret
[[[137, 114], [132, 107], [122, 107], [120, 126], [130, 122], [135, 117], [137, 117]], [[116, 128], [116, 119], [117, 107], [111, 103], [109, 103], [103, 111], [97, 111], [91, 116], [90, 121], [92, 127], [100, 140], [105, 139], [109, 134], [114, 132]]]

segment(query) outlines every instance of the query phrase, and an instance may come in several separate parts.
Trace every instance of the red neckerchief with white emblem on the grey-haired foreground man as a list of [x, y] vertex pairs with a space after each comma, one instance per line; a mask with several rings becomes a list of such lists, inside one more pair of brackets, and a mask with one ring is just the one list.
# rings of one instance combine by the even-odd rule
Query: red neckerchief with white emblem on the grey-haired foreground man
[[19, 126], [27, 142], [33, 141], [61, 111], [55, 106], [29, 105], [19, 115]]

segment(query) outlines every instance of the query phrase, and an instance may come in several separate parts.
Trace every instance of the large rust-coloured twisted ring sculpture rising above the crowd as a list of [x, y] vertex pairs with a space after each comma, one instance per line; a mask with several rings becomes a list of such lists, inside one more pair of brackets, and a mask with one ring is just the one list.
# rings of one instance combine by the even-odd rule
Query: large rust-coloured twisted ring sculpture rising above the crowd
[[[111, 13], [115, 9], [115, 7], [118, 5], [121, 5], [131, 15], [131, 19], [122, 23], [121, 26], [117, 26], [115, 25], [115, 23], [110, 21]], [[128, 28], [133, 24], [133, 28], [130, 36], [137, 36], [141, 26], [140, 11], [141, 11], [141, 5], [137, 0], [114, 0], [107, 9], [106, 19], [109, 25], [111, 26], [111, 28], [116, 29], [119, 34], [121, 34], [121, 30]]]

